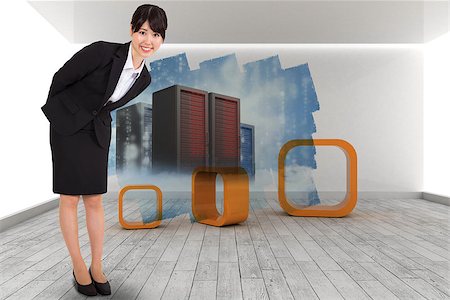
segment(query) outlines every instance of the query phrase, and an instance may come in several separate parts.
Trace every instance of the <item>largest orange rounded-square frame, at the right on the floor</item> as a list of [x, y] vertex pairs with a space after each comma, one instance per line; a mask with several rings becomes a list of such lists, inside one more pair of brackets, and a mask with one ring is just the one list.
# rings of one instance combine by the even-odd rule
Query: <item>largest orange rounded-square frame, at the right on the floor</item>
[[[296, 206], [286, 197], [284, 182], [284, 162], [286, 155], [297, 146], [336, 146], [347, 157], [347, 193], [343, 201], [335, 205]], [[291, 140], [283, 145], [278, 155], [278, 200], [289, 215], [300, 217], [343, 217], [352, 212], [358, 198], [357, 158], [353, 146], [340, 139]]]

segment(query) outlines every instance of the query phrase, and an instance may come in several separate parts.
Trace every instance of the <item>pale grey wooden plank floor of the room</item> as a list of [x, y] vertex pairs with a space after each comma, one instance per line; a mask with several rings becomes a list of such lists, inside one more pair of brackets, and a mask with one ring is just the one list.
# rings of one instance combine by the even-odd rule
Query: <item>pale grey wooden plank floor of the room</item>
[[[158, 228], [124, 230], [117, 193], [103, 201], [109, 298], [450, 299], [448, 206], [359, 200], [345, 218], [300, 218], [255, 197], [245, 223], [216, 228], [192, 222], [190, 198], [172, 197]], [[127, 220], [154, 216], [155, 205], [129, 203]], [[81, 201], [78, 215], [89, 263]], [[84, 299], [57, 209], [0, 234], [0, 270], [0, 299]]]

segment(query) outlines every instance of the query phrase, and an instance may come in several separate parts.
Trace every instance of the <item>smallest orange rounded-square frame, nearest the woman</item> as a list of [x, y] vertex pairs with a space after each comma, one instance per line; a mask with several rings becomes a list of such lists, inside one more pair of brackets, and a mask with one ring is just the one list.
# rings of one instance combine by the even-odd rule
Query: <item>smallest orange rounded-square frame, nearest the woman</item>
[[[157, 217], [156, 220], [151, 223], [144, 222], [127, 222], [123, 218], [123, 196], [129, 190], [154, 190], [157, 197]], [[119, 192], [119, 222], [125, 229], [144, 229], [155, 228], [161, 224], [162, 219], [162, 192], [156, 185], [127, 185], [123, 187]]]

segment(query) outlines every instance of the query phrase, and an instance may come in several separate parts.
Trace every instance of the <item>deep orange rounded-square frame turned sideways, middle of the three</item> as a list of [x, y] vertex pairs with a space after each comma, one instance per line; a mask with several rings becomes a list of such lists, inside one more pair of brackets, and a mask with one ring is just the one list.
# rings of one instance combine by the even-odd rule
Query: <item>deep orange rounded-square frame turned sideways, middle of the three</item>
[[[223, 178], [223, 214], [216, 207], [216, 176]], [[248, 218], [249, 180], [241, 167], [197, 167], [192, 172], [192, 214], [199, 223], [224, 226]]]

